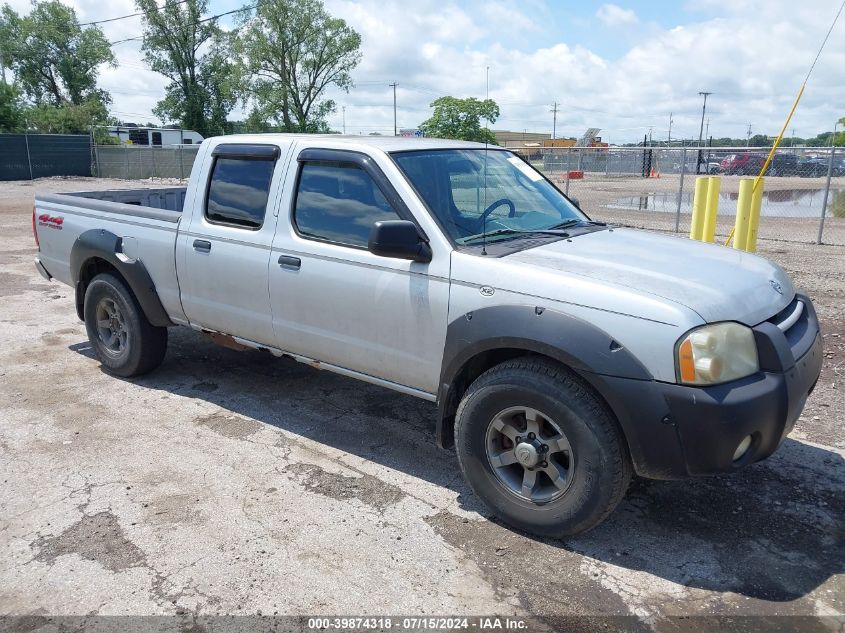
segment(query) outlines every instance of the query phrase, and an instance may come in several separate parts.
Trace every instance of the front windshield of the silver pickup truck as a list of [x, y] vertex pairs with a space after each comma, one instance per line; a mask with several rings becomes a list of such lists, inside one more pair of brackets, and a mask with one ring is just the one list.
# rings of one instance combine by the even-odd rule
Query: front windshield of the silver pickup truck
[[458, 244], [491, 242], [587, 221], [575, 205], [511, 152], [397, 152], [393, 159]]

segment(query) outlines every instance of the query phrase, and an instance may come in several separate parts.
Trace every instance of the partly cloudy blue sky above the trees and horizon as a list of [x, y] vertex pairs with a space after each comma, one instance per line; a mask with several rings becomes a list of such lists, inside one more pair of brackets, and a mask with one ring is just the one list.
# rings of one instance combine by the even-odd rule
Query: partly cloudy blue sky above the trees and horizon
[[[133, 13], [132, 0], [63, 0], [81, 22]], [[702, 97], [715, 137], [775, 136], [841, 0], [324, 0], [362, 37], [363, 59], [348, 92], [330, 91], [329, 117], [348, 134], [415, 128], [438, 96], [484, 98], [500, 107], [493, 129], [552, 132], [599, 128], [611, 143], [696, 138]], [[28, 0], [10, 0], [29, 11]], [[209, 12], [243, 6], [210, 0]], [[222, 24], [234, 25], [232, 18]], [[102, 25], [114, 41], [140, 34], [141, 18]], [[124, 121], [157, 121], [166, 80], [148, 70], [137, 42], [117, 44], [116, 68], [100, 85]], [[345, 107], [345, 113], [343, 108]], [[231, 118], [242, 116], [240, 111]], [[799, 137], [833, 129], [845, 116], [845, 15], [830, 36], [787, 130]]]

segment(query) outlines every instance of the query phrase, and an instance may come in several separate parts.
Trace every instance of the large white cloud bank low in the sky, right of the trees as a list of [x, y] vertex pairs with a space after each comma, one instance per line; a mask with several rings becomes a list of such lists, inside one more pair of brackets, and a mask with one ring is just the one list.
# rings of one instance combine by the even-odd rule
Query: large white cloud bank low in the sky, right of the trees
[[[354, 12], [344, 10], [349, 6]], [[559, 134], [577, 136], [587, 127], [599, 127], [614, 142], [642, 138], [649, 127], [655, 138], [665, 138], [670, 112], [673, 137], [697, 137], [698, 93], [704, 90], [714, 93], [707, 115], [714, 135], [744, 137], [748, 123], [761, 133], [776, 134], [833, 17], [817, 6], [758, 1], [671, 29], [648, 24], [648, 37], [634, 40], [624, 54], [611, 58], [560, 41], [538, 44], [553, 41], [553, 33], [543, 38], [532, 33], [513, 44], [503, 35], [507, 31], [484, 20], [479, 27], [486, 27], [488, 35], [474, 42], [435, 41], [436, 33], [418, 31], [414, 18], [403, 18], [395, 5], [378, 0], [347, 0], [332, 8], [364, 37], [364, 63], [355, 73], [359, 85], [350, 95], [336, 97], [347, 105], [349, 132], [366, 133], [367, 126], [392, 130], [390, 89], [364, 81], [398, 81], [399, 126], [412, 127], [429, 115], [427, 105], [438, 94], [483, 97], [489, 65], [491, 96], [502, 112], [494, 127], [551, 131], [549, 110], [558, 101], [563, 104]], [[422, 2], [417, 10], [432, 7]], [[539, 13], [531, 11], [529, 15]], [[393, 41], [386, 41], [382, 27], [372, 22], [374, 14], [395, 29]], [[362, 15], [370, 17], [359, 21]], [[571, 16], [566, 18], [571, 21]], [[540, 18], [534, 22], [542, 24]], [[793, 119], [799, 136], [830, 130], [845, 114], [845, 85], [839, 77], [845, 64], [843, 30], [845, 24], [840, 24], [840, 35], [831, 36]], [[609, 36], [599, 32], [600, 37]], [[339, 127], [340, 117], [332, 123]]]

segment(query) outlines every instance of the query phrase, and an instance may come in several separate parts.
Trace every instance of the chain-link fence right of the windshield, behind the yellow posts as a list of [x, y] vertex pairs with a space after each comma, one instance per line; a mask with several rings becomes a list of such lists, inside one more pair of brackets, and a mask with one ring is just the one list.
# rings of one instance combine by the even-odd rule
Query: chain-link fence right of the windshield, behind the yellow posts
[[[532, 148], [526, 158], [595, 219], [683, 234], [697, 175], [721, 176], [716, 232], [724, 242], [739, 181], [759, 173], [770, 149]], [[845, 245], [845, 149], [778, 150], [764, 182], [759, 238]]]

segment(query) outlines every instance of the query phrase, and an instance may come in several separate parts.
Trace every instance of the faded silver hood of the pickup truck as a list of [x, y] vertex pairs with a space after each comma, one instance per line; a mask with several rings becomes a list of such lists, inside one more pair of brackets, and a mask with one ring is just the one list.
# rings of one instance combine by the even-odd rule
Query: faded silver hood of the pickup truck
[[652, 295], [685, 306], [706, 322], [756, 325], [783, 310], [795, 295], [787, 274], [767, 259], [632, 229], [596, 231], [504, 259]]

